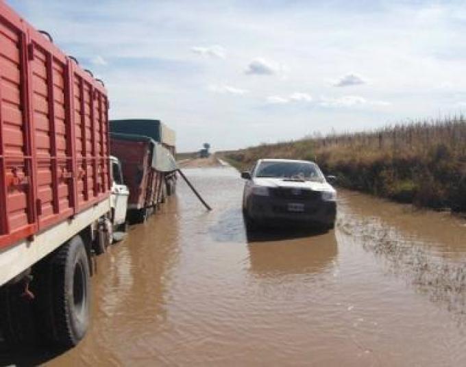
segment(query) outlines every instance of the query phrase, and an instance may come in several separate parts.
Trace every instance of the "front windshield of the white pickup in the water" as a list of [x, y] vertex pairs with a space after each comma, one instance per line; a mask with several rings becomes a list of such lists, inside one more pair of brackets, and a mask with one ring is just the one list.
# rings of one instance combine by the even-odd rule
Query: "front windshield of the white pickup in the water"
[[274, 177], [296, 181], [323, 181], [317, 164], [311, 162], [261, 162], [256, 177]]

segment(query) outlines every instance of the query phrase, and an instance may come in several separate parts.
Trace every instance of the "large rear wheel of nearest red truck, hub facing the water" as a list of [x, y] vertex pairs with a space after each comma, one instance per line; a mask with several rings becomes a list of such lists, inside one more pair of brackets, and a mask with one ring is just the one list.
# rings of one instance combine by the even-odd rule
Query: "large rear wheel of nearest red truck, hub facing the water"
[[51, 336], [71, 348], [84, 338], [90, 318], [90, 270], [80, 236], [53, 255], [51, 275]]

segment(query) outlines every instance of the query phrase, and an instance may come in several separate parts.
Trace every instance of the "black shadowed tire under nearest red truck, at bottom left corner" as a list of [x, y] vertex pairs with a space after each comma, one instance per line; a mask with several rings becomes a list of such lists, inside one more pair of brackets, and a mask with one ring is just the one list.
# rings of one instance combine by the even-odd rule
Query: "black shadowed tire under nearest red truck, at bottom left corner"
[[32, 301], [22, 294], [22, 283], [0, 288], [0, 329], [10, 348], [31, 345], [36, 341]]

